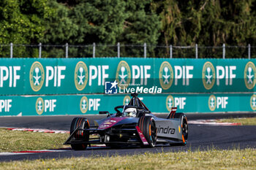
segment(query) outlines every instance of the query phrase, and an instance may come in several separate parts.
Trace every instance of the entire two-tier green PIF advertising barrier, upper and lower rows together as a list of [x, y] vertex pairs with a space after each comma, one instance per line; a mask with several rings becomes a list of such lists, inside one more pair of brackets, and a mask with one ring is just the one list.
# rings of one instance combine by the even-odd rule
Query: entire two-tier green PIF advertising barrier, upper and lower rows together
[[[255, 59], [0, 58], [0, 116], [114, 112], [132, 88], [151, 112], [255, 112]], [[118, 94], [105, 95], [105, 82]], [[156, 92], [156, 91], [154, 91]], [[141, 93], [139, 91], [139, 93]]]

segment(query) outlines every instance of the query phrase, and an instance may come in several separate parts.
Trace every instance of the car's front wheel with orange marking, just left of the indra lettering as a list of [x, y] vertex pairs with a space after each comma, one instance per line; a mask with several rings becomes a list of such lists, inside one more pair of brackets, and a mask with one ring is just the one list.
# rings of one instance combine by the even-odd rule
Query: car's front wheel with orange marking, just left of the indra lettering
[[157, 127], [154, 118], [151, 116], [140, 117], [138, 126], [145, 136], [149, 147], [155, 147], [157, 144]]

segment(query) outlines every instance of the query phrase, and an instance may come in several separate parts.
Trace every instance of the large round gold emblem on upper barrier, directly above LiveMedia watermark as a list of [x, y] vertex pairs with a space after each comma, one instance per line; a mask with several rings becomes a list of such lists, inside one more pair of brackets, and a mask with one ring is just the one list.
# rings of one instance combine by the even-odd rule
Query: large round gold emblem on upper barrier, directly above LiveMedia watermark
[[116, 69], [116, 81], [118, 82], [118, 87], [127, 88], [131, 80], [131, 70], [126, 61], [120, 61]]

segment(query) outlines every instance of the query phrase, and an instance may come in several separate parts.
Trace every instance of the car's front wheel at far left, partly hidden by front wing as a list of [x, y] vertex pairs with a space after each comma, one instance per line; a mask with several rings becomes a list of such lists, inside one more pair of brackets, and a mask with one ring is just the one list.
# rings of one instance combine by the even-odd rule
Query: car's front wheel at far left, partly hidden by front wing
[[[71, 126], [70, 126], [70, 134], [75, 131], [76, 128], [89, 128], [89, 121], [84, 117], [75, 117], [72, 120]], [[75, 139], [89, 141], [89, 134], [85, 133], [84, 131], [78, 131], [77, 134], [74, 135]], [[87, 147], [87, 144], [71, 144], [71, 147], [73, 150], [85, 150]]]

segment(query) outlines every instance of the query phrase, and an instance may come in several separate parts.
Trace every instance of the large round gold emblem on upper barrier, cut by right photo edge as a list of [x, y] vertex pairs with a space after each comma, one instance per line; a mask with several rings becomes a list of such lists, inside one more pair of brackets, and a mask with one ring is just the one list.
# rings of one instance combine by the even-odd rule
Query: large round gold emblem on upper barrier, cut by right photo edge
[[252, 89], [255, 87], [256, 83], [256, 68], [255, 64], [249, 61], [246, 63], [245, 69], [244, 69], [244, 82], [246, 85], [246, 88]]

